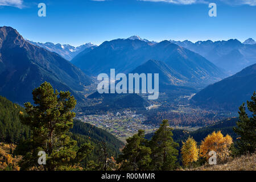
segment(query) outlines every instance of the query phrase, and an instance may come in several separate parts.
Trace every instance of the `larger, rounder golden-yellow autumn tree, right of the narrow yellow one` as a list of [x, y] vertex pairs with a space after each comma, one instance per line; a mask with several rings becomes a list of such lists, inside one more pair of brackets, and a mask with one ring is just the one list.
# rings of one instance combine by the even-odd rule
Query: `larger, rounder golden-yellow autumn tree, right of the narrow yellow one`
[[209, 134], [204, 141], [201, 142], [200, 156], [209, 159], [209, 152], [215, 151], [217, 161], [224, 160], [230, 154], [229, 148], [232, 143], [233, 141], [230, 135], [227, 134], [226, 137], [224, 137], [221, 131], [217, 133], [213, 131], [212, 134]]

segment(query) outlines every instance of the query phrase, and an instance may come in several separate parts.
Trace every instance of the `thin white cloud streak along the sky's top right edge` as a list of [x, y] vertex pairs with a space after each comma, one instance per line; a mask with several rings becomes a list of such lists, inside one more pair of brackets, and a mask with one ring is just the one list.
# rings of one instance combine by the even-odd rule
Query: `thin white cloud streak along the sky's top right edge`
[[[177, 5], [192, 5], [192, 4], [198, 4], [198, 3], [210, 3], [209, 0], [137, 0], [137, 1], [151, 1], [151, 2], [167, 2], [167, 3], [173, 3]], [[228, 5], [250, 5], [250, 6], [256, 6], [256, 0], [217, 0], [214, 1], [226, 3]]]

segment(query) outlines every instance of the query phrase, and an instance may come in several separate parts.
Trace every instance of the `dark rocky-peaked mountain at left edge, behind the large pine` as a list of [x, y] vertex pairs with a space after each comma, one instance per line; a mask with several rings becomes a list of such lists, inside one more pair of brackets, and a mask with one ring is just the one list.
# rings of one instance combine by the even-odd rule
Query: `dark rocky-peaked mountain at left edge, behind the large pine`
[[91, 80], [81, 69], [54, 52], [34, 46], [11, 27], [0, 27], [0, 95], [23, 104], [32, 90], [48, 81], [53, 88], [83, 90]]

